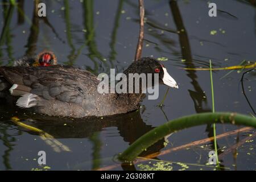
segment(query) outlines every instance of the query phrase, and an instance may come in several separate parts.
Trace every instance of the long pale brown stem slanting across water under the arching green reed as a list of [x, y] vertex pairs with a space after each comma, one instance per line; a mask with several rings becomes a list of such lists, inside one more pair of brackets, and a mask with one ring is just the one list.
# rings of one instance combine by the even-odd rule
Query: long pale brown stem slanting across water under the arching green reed
[[[233, 131], [229, 131], [229, 132], [226, 132], [226, 133], [223, 133], [223, 134], [220, 134], [220, 135], [217, 135], [216, 136], [216, 139], [220, 139], [220, 138], [223, 138], [223, 137], [228, 137], [230, 135], [235, 135], [237, 133], [241, 133], [241, 132], [245, 132], [245, 131], [249, 131], [249, 130], [252, 130], [253, 128], [251, 127], [243, 127], [241, 129], [237, 129], [237, 130], [233, 130]], [[170, 154], [170, 152], [174, 152], [174, 151], [178, 151], [178, 150], [182, 150], [184, 148], [188, 148], [188, 147], [192, 147], [192, 146], [198, 146], [200, 144], [204, 144], [204, 143], [207, 143], [207, 142], [211, 142], [212, 140], [214, 140], [214, 137], [210, 137], [210, 138], [205, 138], [205, 139], [201, 139], [201, 140], [197, 140], [195, 142], [191, 142], [191, 143], [188, 143], [188, 144], [184, 144], [182, 146], [179, 146], [179, 147], [174, 147], [174, 148], [170, 148], [168, 150], [164, 150], [164, 151], [160, 151], [160, 152], [155, 152], [153, 154], [150, 154], [150, 155], [147, 155], [147, 156], [144, 156], [144, 158], [147, 158], [147, 159], [138, 159], [134, 162], [134, 164], [137, 164], [139, 162], [143, 162], [143, 161], [146, 161], [146, 160], [149, 160], [149, 159], [152, 159], [152, 158], [156, 158], [157, 156], [161, 156], [161, 155], [166, 155], [166, 154]], [[107, 171], [107, 170], [111, 170], [111, 169], [114, 169], [114, 168], [117, 168], [121, 166], [121, 164], [114, 164], [112, 166], [106, 166], [106, 167], [102, 167], [102, 168], [99, 168], [97, 169], [98, 171]]]

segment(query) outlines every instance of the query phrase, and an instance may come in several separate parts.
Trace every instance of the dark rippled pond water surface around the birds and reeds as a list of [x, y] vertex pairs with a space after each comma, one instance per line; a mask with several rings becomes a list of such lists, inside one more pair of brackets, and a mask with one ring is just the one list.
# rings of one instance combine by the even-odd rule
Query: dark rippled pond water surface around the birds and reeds
[[[39, 1], [20, 0], [19, 6], [13, 9], [6, 2], [0, 2], [0, 31], [6, 30], [0, 41], [2, 65], [11, 65], [14, 59], [44, 49], [55, 52], [60, 64], [76, 65], [95, 74], [108, 73], [110, 68], [122, 72], [134, 59], [139, 33], [138, 1], [44, 1], [47, 16], [40, 19], [34, 15], [34, 7]], [[44, 166], [39, 166], [37, 161], [38, 151], [42, 150], [46, 151], [47, 166], [51, 169], [89, 170], [118, 164], [115, 155], [154, 127], [184, 115], [211, 111], [209, 71], [184, 71], [180, 68], [208, 68], [209, 59], [214, 68], [239, 65], [243, 60], [254, 62], [256, 6], [253, 1], [214, 1], [218, 13], [216, 18], [210, 18], [207, 2], [180, 0], [170, 7], [168, 1], [145, 1], [142, 54], [156, 59], [167, 58], [163, 64], [179, 84], [179, 89], [170, 89], [162, 109], [157, 105], [167, 86], [160, 86], [158, 100], [145, 98], [140, 111], [89, 121], [79, 119], [74, 122], [72, 119], [40, 118], [38, 115], [28, 117], [0, 104], [0, 170], [42, 169]], [[172, 32], [183, 26], [188, 39], [184, 34], [179, 36]], [[242, 93], [240, 80], [245, 71], [233, 71], [224, 78], [221, 77], [229, 71], [213, 72], [216, 111], [253, 114]], [[252, 71], [244, 79], [245, 92], [254, 110], [255, 78], [255, 71]], [[16, 126], [10, 121], [13, 116], [46, 131], [56, 138], [53, 141], [62, 143], [71, 151], [56, 152], [58, 144], [49, 144], [38, 134]], [[238, 128], [217, 125], [217, 134]], [[212, 131], [213, 128], [206, 125], [179, 131], [168, 138], [166, 147], [164, 140], [160, 140], [145, 154], [211, 137]], [[256, 139], [251, 137], [254, 131], [218, 140], [222, 167], [227, 170], [256, 169]], [[246, 137], [251, 138], [236, 151], [229, 151]], [[177, 163], [181, 162], [188, 165], [187, 170], [212, 170], [205, 164], [208, 163], [208, 152], [214, 146], [213, 143], [205, 144], [159, 156], [157, 159], [173, 163], [157, 163], [155, 166], [158, 169], [184, 169]], [[154, 164], [156, 162], [151, 161], [113, 169], [144, 169]]]

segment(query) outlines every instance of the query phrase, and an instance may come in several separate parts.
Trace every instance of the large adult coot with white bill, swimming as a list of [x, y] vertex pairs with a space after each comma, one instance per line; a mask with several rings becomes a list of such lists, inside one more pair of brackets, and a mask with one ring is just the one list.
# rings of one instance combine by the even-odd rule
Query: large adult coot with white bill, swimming
[[[166, 68], [149, 57], [134, 61], [124, 73], [159, 73], [160, 84], [177, 88]], [[138, 109], [143, 96], [142, 93], [100, 94], [97, 90], [100, 80], [95, 75], [64, 65], [0, 67], [0, 76], [9, 82], [9, 88], [2, 92], [17, 97], [17, 106], [51, 116], [82, 118], [127, 113]]]

